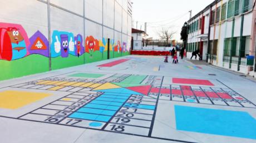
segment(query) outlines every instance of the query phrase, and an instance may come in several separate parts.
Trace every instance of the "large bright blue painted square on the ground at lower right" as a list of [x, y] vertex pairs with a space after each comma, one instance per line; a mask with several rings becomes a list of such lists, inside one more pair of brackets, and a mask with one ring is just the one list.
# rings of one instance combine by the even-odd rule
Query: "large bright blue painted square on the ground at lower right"
[[176, 129], [256, 140], [256, 120], [247, 112], [175, 106]]

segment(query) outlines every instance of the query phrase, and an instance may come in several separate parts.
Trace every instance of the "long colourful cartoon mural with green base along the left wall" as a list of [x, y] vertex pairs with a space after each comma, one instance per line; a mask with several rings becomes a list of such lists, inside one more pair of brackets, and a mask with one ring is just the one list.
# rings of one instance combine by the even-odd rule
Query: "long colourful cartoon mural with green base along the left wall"
[[[51, 38], [49, 43], [40, 31], [29, 38], [21, 24], [0, 22], [0, 65], [6, 67], [0, 68], [3, 73], [0, 80], [46, 72], [50, 69], [49, 57], [52, 70], [107, 59], [107, 38], [84, 39], [79, 33], [56, 30]], [[120, 57], [122, 53], [129, 55], [125, 42], [111, 40], [109, 50], [110, 58]], [[23, 71], [14, 72], [15, 69]]]

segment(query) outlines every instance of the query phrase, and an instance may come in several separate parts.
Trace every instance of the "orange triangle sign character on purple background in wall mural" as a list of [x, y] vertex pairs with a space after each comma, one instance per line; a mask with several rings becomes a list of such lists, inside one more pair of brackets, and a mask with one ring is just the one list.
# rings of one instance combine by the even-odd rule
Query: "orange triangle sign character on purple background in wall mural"
[[47, 38], [37, 31], [33, 36], [29, 38], [31, 45], [28, 46], [29, 55], [40, 54], [49, 57], [49, 45]]

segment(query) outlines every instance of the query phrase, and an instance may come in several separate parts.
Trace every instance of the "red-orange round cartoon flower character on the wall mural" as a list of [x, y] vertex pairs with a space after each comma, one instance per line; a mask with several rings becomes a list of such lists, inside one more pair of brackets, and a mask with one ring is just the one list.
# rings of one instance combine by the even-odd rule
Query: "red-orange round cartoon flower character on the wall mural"
[[86, 37], [85, 52], [90, 53], [90, 58], [92, 58], [93, 52], [99, 51], [99, 50], [100, 50], [99, 41], [93, 38], [92, 36]]

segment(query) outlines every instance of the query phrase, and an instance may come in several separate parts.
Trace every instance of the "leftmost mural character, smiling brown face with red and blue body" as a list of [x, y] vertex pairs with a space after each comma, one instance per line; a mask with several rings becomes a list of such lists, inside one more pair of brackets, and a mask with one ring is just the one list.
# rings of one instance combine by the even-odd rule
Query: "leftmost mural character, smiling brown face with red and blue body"
[[29, 44], [21, 25], [0, 22], [0, 59], [12, 61], [27, 56]]

